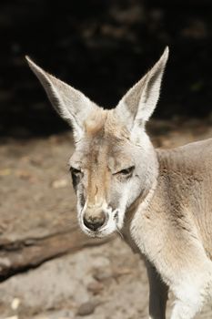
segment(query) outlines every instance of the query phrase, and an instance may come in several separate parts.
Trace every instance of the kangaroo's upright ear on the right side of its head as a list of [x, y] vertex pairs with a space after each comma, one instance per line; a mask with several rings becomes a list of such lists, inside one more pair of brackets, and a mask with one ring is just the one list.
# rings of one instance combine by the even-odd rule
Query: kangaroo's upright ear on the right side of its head
[[152, 115], [159, 98], [160, 85], [166, 67], [168, 47], [156, 65], [118, 103], [115, 112], [129, 130], [142, 126]]

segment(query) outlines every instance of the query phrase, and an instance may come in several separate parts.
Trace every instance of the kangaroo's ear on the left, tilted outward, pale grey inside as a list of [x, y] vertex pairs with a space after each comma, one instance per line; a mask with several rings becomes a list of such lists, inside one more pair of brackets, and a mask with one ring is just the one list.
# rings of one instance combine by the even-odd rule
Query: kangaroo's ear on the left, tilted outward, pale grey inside
[[45, 72], [41, 67], [36, 66], [29, 57], [26, 57], [26, 60], [45, 88], [53, 107], [73, 127], [76, 141], [81, 139], [84, 134], [84, 121], [88, 114], [97, 108], [96, 105], [74, 87], [68, 86], [58, 78]]

